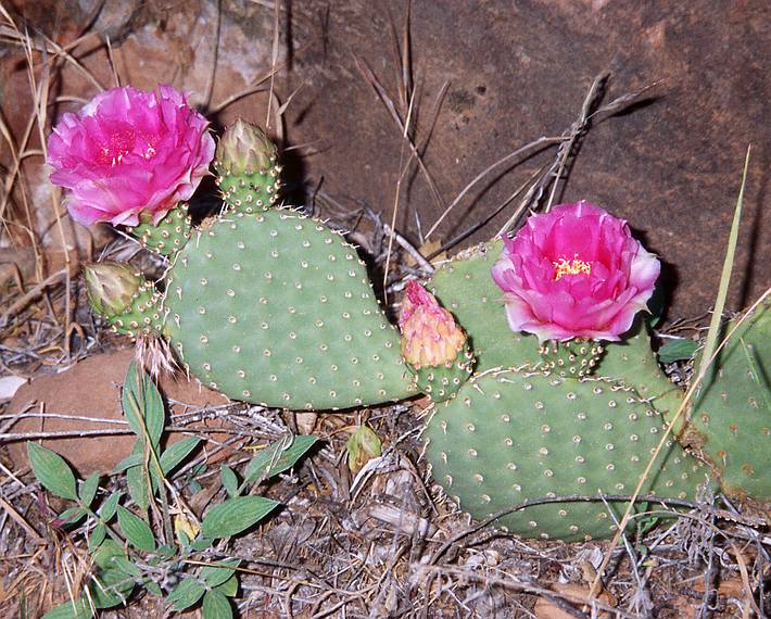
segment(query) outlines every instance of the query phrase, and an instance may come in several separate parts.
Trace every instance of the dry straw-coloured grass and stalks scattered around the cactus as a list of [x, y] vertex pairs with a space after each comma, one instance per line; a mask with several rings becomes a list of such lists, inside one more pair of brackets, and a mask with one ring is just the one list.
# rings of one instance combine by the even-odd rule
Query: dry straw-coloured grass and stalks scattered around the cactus
[[[268, 123], [280, 136], [282, 114], [293, 97], [290, 93], [281, 103], [275, 89], [275, 77], [285, 70], [278, 55], [279, 17], [285, 9], [279, 2], [258, 4], [271, 11], [275, 18], [271, 66], [245, 90], [230, 93], [207, 105], [207, 110], [216, 113], [237, 100], [267, 90]], [[39, 168], [52, 110], [83, 101], [79, 92], [56, 93], [61, 72], [75, 72], [92, 89], [101, 89], [100, 80], [79, 60], [87, 52], [103, 54], [116, 83], [121, 76], [111, 46], [97, 33], [85, 31], [69, 42], [58, 42], [33, 36], [2, 4], [0, 16], [0, 41], [23, 60], [29, 83], [28, 121], [23, 130], [14, 135], [0, 118], [5, 156], [0, 184], [0, 243], [14, 248], [18, 254], [13, 261], [13, 277], [7, 278], [1, 290], [4, 310], [0, 317], [0, 368], [4, 376], [29, 376], [63, 369], [94, 352], [124, 343], [105, 336], [93, 324], [76, 277], [78, 261], [91, 258], [96, 253], [93, 245], [101, 243], [92, 243], [83, 231], [76, 233], [54, 188], [48, 188], [49, 206], [31, 199], [40, 193], [37, 184], [42, 178]], [[401, 182], [414, 168], [444, 213], [421, 235], [422, 244], [492, 172], [518, 162], [524, 153], [558, 147], [552, 163], [532, 173], [494, 210], [496, 215], [514, 200], [520, 200], [498, 231], [501, 235], [516, 226], [528, 210], [553, 203], [591, 122], [635, 100], [634, 96], [623, 96], [603, 104], [604, 76], [598, 76], [577, 121], [564, 134], [543, 137], [515, 150], [481, 170], [446, 202], [422, 157], [435, 129], [446, 85], [431, 97], [431, 121], [422, 135], [417, 135], [413, 121], [422, 93], [419, 76], [412, 66], [408, 12], [401, 24], [393, 26], [392, 37], [394, 66], [400, 76], [394, 96], [387, 92], [364, 61], [357, 60], [363, 78], [377, 93], [403, 141], [400, 160], [394, 162], [399, 182], [394, 188], [393, 218], [384, 223], [366, 205], [324, 191], [315, 193], [314, 204], [308, 205], [330, 217], [330, 224], [350, 230], [351, 238], [371, 258], [374, 270], [381, 275], [390, 301], [407, 279], [430, 274], [432, 258], [489, 220], [471, 223], [468, 230], [422, 255], [395, 229], [396, 213], [402, 207]], [[301, 52], [302, 48], [296, 53]], [[212, 86], [206, 101], [211, 98]], [[46, 209], [52, 217], [41, 222], [35, 209]], [[18, 257], [23, 249], [29, 254], [26, 263]], [[130, 243], [118, 241], [106, 251], [125, 255], [134, 249]], [[9, 431], [16, 418], [9, 417], [5, 408], [3, 405], [0, 409], [0, 442], [20, 438]], [[750, 617], [753, 612], [760, 616], [771, 610], [760, 607], [763, 603], [768, 606], [764, 586], [771, 573], [771, 539], [767, 536], [764, 513], [735, 506], [725, 497], [704, 496], [700, 502], [686, 505], [692, 509], [668, 529], [640, 540], [622, 538], [617, 546], [505, 536], [471, 523], [430, 480], [420, 457], [420, 402], [413, 402], [319, 418], [315, 433], [324, 439], [324, 447], [267, 489], [267, 495], [280, 501], [285, 508], [254, 534], [217, 548], [217, 556], [243, 560], [239, 598], [243, 617], [545, 617], [545, 602], [552, 605], [546, 607], [552, 609], [548, 611], [560, 608], [573, 617], [597, 616], [601, 611], [635, 618]], [[255, 446], [287, 430], [296, 430], [292, 415], [243, 404], [189, 409], [175, 416], [172, 426], [189, 429], [204, 418], [227, 419], [229, 439], [213, 442], [208, 434], [204, 437], [210, 440], [210, 456], [240, 445], [228, 458], [233, 468], [245, 463]], [[349, 430], [364, 420], [381, 438], [386, 452], [377, 464], [353, 478], [345, 466], [345, 440]], [[100, 439], [94, 435], [92, 440]], [[37, 617], [54, 603], [75, 595], [88, 582], [90, 559], [81, 532], [51, 525], [61, 506], [40, 491], [30, 471], [14, 470], [1, 450], [0, 462], [0, 556], [4, 559], [0, 563], [0, 616]], [[179, 492], [192, 509], [222, 493], [218, 470], [204, 469], [202, 465], [204, 456], [187, 464], [181, 471], [184, 479], [178, 482]], [[115, 476], [108, 483], [116, 489], [121, 481]], [[200, 487], [198, 492], [193, 492], [195, 484]], [[599, 570], [603, 580], [597, 576], [601, 564], [607, 567]], [[578, 591], [583, 593], [561, 588], [566, 582], [580, 585]], [[536, 603], [540, 615], [534, 614]], [[160, 617], [166, 612], [144, 597], [132, 601], [127, 609], [105, 615]]]

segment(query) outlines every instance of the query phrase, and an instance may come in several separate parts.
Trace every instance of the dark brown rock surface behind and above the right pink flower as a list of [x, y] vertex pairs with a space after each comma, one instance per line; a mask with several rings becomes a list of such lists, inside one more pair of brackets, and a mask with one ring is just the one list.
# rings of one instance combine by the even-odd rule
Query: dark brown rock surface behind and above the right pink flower
[[[293, 3], [295, 18], [311, 18], [320, 4]], [[325, 45], [295, 62], [295, 84], [313, 75], [313, 87], [289, 109], [289, 126], [298, 122], [292, 141], [320, 139], [326, 147], [307, 160], [307, 173], [323, 175], [324, 189], [344, 203], [355, 206], [355, 199], [384, 213], [394, 203], [402, 140], [354, 56], [397, 101], [391, 16], [401, 37], [404, 10], [389, 7], [364, 0], [331, 5]], [[697, 316], [713, 303], [751, 142], [731, 306], [748, 304], [771, 285], [769, 2], [446, 0], [410, 7], [413, 76], [422, 92], [418, 142], [435, 94], [450, 81], [424, 157], [445, 204], [493, 162], [569, 127], [593, 77], [608, 70], [606, 101], [657, 86], [648, 104], [591, 129], [561, 201], [595, 201], [643, 231], [677, 285], [670, 316]], [[488, 190], [482, 184], [483, 191], [471, 192], [478, 200], [463, 201], [440, 227], [441, 237], [451, 239], [492, 213], [552, 156], [524, 162]], [[413, 239], [416, 211], [424, 231], [441, 211], [420, 175], [400, 204], [400, 228]], [[495, 233], [513, 211], [466, 244]]]

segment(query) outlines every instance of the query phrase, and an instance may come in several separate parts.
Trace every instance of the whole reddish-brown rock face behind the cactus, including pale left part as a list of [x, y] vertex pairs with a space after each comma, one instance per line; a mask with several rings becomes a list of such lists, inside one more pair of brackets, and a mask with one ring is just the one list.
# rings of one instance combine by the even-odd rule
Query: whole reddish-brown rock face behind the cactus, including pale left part
[[[68, 12], [58, 14], [64, 4]], [[277, 23], [277, 64], [285, 68], [273, 91], [279, 103], [294, 93], [285, 114], [285, 146], [318, 151], [313, 156], [286, 153], [290, 185], [302, 193], [302, 187], [317, 187], [324, 178], [323, 191], [344, 206], [366, 203], [390, 218], [408, 149], [357, 62], [371, 68], [406, 116], [395, 49], [402, 45], [407, 3], [282, 2], [276, 22], [261, 3], [219, 4], [217, 22], [216, 0], [192, 0], [185, 11], [173, 3], [106, 2], [94, 24], [110, 35], [124, 83], [142, 88], [173, 83], [193, 91], [192, 100], [201, 103], [219, 23], [214, 104], [269, 72]], [[13, 5], [49, 36], [67, 42], [100, 3], [15, 0]], [[713, 302], [744, 154], [753, 142], [731, 306], [746, 305], [768, 286], [771, 4], [415, 0], [409, 7], [418, 144], [432, 125], [437, 93], [445, 81], [448, 87], [422, 153], [441, 203], [422, 173], [408, 175], [399, 202], [401, 231], [416, 240], [416, 213], [426, 231], [479, 172], [526, 142], [566, 129], [593, 77], [609, 71], [606, 101], [655, 87], [645, 102], [592, 128], [561, 201], [591, 200], [644, 231], [646, 245], [668, 265], [670, 288], [677, 286], [670, 316], [700, 315]], [[87, 45], [101, 43], [93, 38]], [[112, 84], [104, 50], [76, 55], [103, 84]], [[21, 109], [29, 100], [21, 58], [9, 55], [2, 65], [10, 96], [0, 105], [14, 135], [21, 135], [29, 116], [29, 110]], [[78, 97], [94, 92], [72, 67], [63, 71], [60, 88]], [[268, 97], [267, 91], [250, 94], [213, 119], [227, 123], [243, 114], [263, 123]], [[271, 105], [275, 111], [276, 101]], [[276, 122], [271, 125], [276, 132]], [[491, 214], [553, 155], [533, 156], [480, 184], [434, 236], [448, 240]], [[45, 207], [46, 195], [38, 198]], [[514, 209], [509, 205], [463, 244], [492, 236]]]

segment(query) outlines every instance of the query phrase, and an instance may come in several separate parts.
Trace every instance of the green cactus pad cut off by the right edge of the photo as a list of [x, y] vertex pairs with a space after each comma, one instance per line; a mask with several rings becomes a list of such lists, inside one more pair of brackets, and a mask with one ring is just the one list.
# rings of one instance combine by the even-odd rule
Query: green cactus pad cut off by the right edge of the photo
[[[724, 334], [737, 319], [729, 321]], [[695, 367], [698, 367], [697, 356]], [[686, 440], [716, 466], [726, 493], [771, 500], [771, 303], [733, 332], [707, 371]]]

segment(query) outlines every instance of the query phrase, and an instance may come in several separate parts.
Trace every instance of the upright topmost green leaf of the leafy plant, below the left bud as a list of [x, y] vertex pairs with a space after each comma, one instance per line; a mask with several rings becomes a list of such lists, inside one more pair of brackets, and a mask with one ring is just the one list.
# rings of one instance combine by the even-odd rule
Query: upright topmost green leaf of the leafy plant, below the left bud
[[164, 426], [164, 409], [161, 393], [152, 379], [131, 362], [123, 384], [123, 413], [137, 437], [144, 441], [144, 431], [157, 452]]

